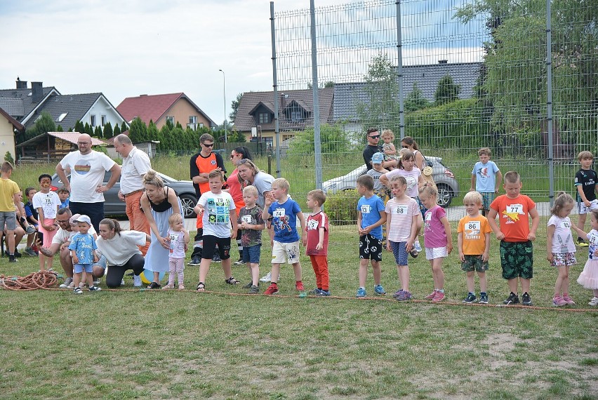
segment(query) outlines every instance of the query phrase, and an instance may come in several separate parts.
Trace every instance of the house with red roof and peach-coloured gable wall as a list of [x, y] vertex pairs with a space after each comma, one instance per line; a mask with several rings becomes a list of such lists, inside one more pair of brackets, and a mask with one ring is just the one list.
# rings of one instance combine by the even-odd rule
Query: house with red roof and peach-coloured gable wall
[[171, 121], [173, 125], [179, 122], [183, 128], [188, 126], [194, 130], [204, 126], [215, 128], [217, 125], [185, 93], [126, 98], [118, 105], [117, 110], [129, 124], [133, 119], [139, 118], [145, 124], [154, 121], [158, 129], [166, 125], [166, 121]]

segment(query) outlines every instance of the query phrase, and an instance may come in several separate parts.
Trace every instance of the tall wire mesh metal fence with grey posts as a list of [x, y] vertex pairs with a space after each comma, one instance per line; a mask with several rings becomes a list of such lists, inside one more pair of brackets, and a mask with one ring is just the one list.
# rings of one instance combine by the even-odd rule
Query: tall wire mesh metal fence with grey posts
[[[316, 106], [293, 102], [293, 91], [315, 84], [332, 93], [331, 107], [320, 101], [315, 121], [324, 181], [363, 165], [365, 131], [375, 126], [394, 131], [399, 149], [408, 135], [425, 156], [442, 158], [459, 186], [447, 209], [453, 220], [464, 213], [457, 206], [481, 147], [491, 148], [503, 173], [520, 173], [522, 192], [540, 202], [540, 214], [549, 213], [552, 192], [574, 194], [578, 152], [597, 150], [596, 1], [380, 0], [315, 8], [317, 81], [310, 16], [309, 9], [271, 15], [274, 87], [279, 121], [301, 117], [306, 126], [314, 125]], [[317, 186], [317, 135], [310, 128], [293, 133], [281, 175], [303, 198]], [[349, 222], [350, 205], [333, 204], [347, 209], [331, 221]]]

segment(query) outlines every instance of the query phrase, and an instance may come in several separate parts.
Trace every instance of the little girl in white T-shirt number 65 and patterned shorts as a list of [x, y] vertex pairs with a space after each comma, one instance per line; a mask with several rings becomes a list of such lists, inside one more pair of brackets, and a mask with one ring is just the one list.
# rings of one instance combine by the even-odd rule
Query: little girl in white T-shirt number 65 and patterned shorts
[[[565, 192], [559, 192], [554, 199], [554, 206], [550, 210], [546, 239], [546, 259], [550, 265], [557, 267], [559, 275], [554, 284], [554, 298], [552, 305], [575, 305], [569, 296], [569, 267], [577, 264], [575, 258], [575, 243], [571, 237], [571, 220], [569, 213], [573, 210], [575, 201]], [[563, 293], [561, 295], [561, 292]]]

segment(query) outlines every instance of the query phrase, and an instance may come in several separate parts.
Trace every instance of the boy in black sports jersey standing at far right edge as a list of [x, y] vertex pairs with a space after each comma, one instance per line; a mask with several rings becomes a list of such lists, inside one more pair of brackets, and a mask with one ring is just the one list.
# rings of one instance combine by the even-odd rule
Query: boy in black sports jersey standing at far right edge
[[[577, 159], [581, 168], [575, 174], [575, 187], [577, 189], [577, 211], [579, 219], [577, 227], [583, 230], [585, 225], [585, 216], [590, 211], [598, 209], [598, 200], [596, 199], [596, 191], [598, 190], [598, 178], [596, 171], [590, 169], [592, 162], [594, 162], [594, 154], [591, 152], [580, 152]], [[578, 246], [589, 246], [586, 241], [578, 236]]]

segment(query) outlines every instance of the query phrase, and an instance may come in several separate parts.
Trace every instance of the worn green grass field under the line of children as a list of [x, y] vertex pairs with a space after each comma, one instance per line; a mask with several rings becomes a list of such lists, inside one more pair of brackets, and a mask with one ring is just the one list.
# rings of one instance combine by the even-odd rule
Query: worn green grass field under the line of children
[[[187, 291], [0, 290], [1, 399], [596, 399], [598, 310], [575, 280], [578, 306], [550, 307], [555, 271], [535, 244], [531, 295], [536, 307], [501, 307], [498, 242], [491, 246], [491, 305], [463, 305], [465, 276], [456, 254], [444, 264], [448, 300], [422, 301], [430, 267], [410, 259], [414, 302], [390, 298], [399, 287], [390, 253], [389, 295], [355, 299], [358, 246], [354, 226], [334, 227], [330, 246], [334, 298], [297, 298], [290, 266], [281, 295], [244, 295], [225, 284], [220, 265], [210, 293]], [[454, 241], [456, 243], [456, 241]], [[350, 244], [350, 245], [347, 245]], [[262, 272], [268, 270], [269, 244]], [[55, 260], [58, 262], [58, 260]], [[304, 282], [314, 274], [302, 257]], [[57, 264], [58, 265], [58, 264]], [[0, 272], [25, 275], [34, 258], [0, 260]], [[234, 276], [248, 281], [246, 267]], [[368, 295], [373, 296], [371, 273]], [[260, 287], [260, 292], [265, 285]]]

